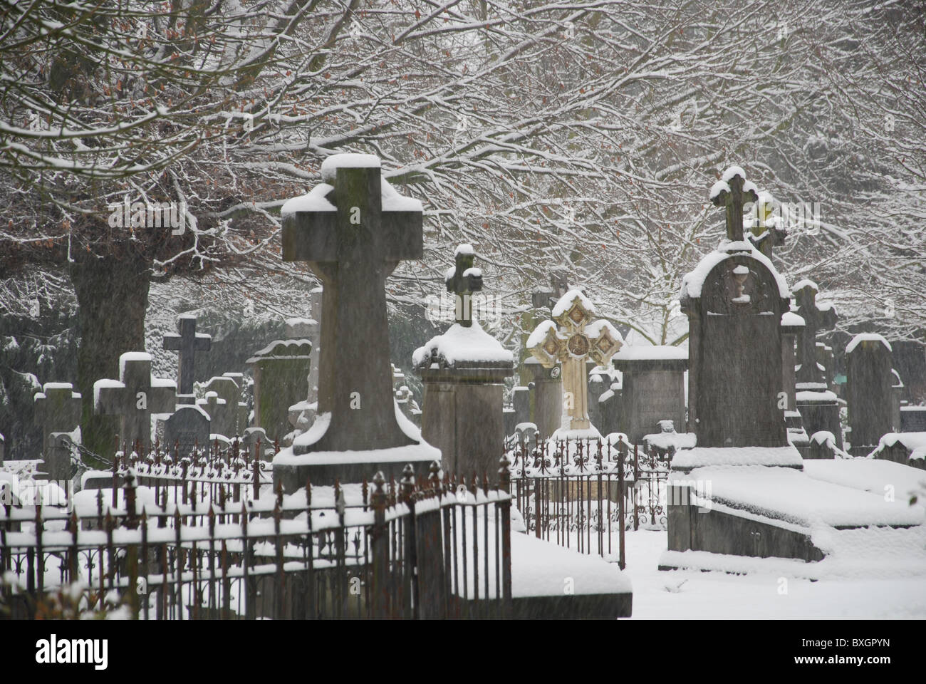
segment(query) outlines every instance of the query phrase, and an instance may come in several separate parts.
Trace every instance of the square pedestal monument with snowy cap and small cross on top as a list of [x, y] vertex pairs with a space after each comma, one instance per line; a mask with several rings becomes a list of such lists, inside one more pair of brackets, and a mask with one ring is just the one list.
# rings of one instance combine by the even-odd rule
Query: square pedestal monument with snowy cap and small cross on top
[[494, 471], [506, 437], [503, 382], [514, 357], [473, 315], [469, 298], [482, 289], [482, 272], [472, 247], [457, 247], [454, 258], [445, 283], [457, 298], [457, 322], [412, 356], [424, 383], [421, 435], [441, 450], [445, 471], [482, 475]]

